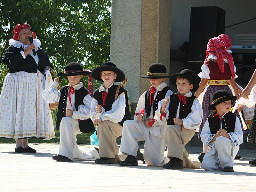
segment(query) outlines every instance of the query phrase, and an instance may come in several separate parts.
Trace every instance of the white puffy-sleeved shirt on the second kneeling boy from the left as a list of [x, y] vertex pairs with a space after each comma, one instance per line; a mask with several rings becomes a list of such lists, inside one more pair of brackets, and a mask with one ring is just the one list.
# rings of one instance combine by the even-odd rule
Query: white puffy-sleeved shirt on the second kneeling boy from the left
[[[108, 88], [113, 86], [113, 84], [111, 84]], [[99, 91], [100, 92], [102, 92], [102, 91], [108, 92], [108, 88], [105, 89], [103, 85], [104, 84], [100, 85]], [[102, 107], [101, 113], [97, 113], [97, 111], [96, 111], [97, 105], [99, 105], [98, 101], [96, 99], [92, 98], [91, 111], [90, 111], [90, 118], [92, 119], [92, 122], [94, 122], [95, 118], [100, 117], [102, 119], [102, 121], [109, 120], [113, 123], [118, 123], [118, 122], [122, 121], [122, 119], [124, 118], [124, 114], [125, 114], [125, 107], [126, 107], [125, 94], [123, 92], [120, 95], [118, 95], [117, 99], [114, 101], [114, 103], [111, 106], [111, 110], [109, 110], [109, 111], [105, 111], [105, 108]]]

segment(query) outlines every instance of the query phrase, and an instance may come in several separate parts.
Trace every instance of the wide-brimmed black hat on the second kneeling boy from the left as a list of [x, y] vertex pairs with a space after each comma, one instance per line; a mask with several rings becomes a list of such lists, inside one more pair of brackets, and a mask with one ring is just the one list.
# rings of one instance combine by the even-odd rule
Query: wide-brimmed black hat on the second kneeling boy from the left
[[102, 63], [101, 66], [93, 69], [91, 72], [92, 78], [97, 81], [103, 82], [103, 80], [100, 78], [100, 72], [102, 71], [114, 71], [116, 73], [115, 82], [124, 81], [124, 78], [125, 78], [124, 72], [121, 69], [117, 68], [116, 65], [112, 62], [108, 61], [108, 62]]

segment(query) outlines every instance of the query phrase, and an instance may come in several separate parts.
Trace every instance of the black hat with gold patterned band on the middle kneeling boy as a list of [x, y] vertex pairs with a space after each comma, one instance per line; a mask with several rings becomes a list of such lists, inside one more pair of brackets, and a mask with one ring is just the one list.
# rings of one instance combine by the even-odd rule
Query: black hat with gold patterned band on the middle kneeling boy
[[146, 76], [139, 75], [139, 77], [147, 79], [161, 79], [169, 78], [166, 73], [166, 68], [162, 63], [153, 63], [148, 67], [148, 74]]

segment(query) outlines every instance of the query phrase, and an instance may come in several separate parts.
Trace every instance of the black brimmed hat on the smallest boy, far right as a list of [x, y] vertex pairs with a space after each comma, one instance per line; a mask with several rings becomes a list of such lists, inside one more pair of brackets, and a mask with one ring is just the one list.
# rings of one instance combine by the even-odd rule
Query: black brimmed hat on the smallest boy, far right
[[236, 96], [230, 95], [227, 90], [218, 90], [212, 95], [212, 105], [209, 106], [209, 110], [216, 110], [216, 105], [231, 100], [232, 103], [237, 99]]

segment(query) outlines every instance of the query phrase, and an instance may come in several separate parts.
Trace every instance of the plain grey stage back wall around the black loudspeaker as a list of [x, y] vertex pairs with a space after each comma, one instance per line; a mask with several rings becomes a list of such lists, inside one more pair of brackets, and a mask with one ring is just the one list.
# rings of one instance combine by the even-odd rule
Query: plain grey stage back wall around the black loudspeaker
[[[218, 6], [224, 9], [226, 11], [225, 26], [256, 17], [255, 0], [172, 0], [172, 49], [179, 49], [185, 41], [189, 41], [190, 8], [197, 6]], [[256, 34], [256, 21], [253, 23], [242, 23], [235, 29], [225, 28], [225, 33], [231, 39], [233, 34]]]

